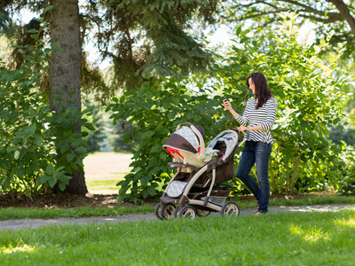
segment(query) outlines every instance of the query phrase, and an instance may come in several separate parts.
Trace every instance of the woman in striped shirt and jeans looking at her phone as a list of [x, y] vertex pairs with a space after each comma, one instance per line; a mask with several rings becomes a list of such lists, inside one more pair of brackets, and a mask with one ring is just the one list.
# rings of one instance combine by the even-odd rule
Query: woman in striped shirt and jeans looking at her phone
[[[243, 115], [236, 113], [231, 103], [224, 100], [226, 110], [241, 123], [239, 131], [248, 130], [250, 136], [241, 153], [241, 160], [237, 170], [237, 177], [247, 185], [257, 200], [255, 215], [265, 214], [268, 211], [270, 199], [270, 184], [268, 166], [272, 153], [272, 129], [277, 111], [277, 101], [272, 97], [272, 92], [267, 85], [264, 74], [254, 73], [248, 76], [248, 88], [255, 95], [249, 98]], [[248, 127], [246, 125], [248, 124]], [[256, 164], [256, 175], [260, 186], [249, 175], [251, 168]]]

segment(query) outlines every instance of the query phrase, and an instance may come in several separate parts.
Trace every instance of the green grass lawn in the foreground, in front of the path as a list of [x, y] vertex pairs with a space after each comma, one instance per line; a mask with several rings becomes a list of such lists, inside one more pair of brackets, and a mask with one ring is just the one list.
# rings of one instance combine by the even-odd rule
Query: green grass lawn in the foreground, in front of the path
[[354, 265], [355, 210], [2, 231], [0, 265]]

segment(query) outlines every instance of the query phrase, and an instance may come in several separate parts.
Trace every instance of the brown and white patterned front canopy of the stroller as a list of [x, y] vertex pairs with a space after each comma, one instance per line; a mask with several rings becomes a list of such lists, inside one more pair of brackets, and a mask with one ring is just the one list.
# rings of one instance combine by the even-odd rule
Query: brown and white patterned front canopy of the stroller
[[[205, 138], [205, 130], [201, 126], [194, 126], [198, 129], [203, 137]], [[193, 132], [190, 127], [182, 127], [170, 135], [163, 148], [175, 148], [178, 150], [185, 151], [186, 153], [199, 153], [199, 148], [201, 147], [199, 138]]]

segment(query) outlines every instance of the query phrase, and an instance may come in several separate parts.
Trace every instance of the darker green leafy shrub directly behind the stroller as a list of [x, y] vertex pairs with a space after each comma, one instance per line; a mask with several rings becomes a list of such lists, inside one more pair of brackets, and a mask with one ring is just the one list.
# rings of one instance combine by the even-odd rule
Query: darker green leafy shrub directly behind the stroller
[[106, 108], [113, 112], [114, 123], [121, 121], [123, 126], [130, 123], [122, 138], [126, 142], [136, 141], [132, 149], [132, 170], [118, 183], [119, 200], [137, 202], [142, 197], [154, 196], [164, 188], [161, 184], [168, 183], [172, 171], [167, 164], [171, 159], [162, 145], [177, 125], [185, 121], [200, 124], [207, 139], [225, 128], [217, 122], [224, 116], [221, 115], [222, 97], [209, 98], [209, 93], [202, 88], [192, 93], [184, 82], [173, 80], [159, 86], [145, 82], [138, 92], [127, 91]]

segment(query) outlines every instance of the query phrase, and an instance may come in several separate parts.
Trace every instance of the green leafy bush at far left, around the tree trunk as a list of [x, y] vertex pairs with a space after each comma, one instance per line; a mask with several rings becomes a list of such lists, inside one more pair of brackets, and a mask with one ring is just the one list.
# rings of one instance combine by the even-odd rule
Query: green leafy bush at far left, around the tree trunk
[[[41, 30], [46, 28], [43, 22]], [[24, 59], [19, 69], [7, 69], [0, 61], [0, 184], [3, 192], [26, 193], [32, 200], [56, 184], [63, 191], [70, 174], [83, 170], [87, 144], [82, 137], [87, 133], [75, 129], [93, 126], [82, 118], [90, 109], [81, 112], [65, 106], [73, 101], [72, 91], [57, 93], [59, 112], [44, 103], [36, 84], [57, 49], [54, 43], [46, 48], [37, 30], [30, 32], [37, 43], [17, 47]]]

